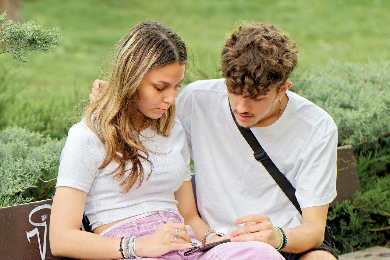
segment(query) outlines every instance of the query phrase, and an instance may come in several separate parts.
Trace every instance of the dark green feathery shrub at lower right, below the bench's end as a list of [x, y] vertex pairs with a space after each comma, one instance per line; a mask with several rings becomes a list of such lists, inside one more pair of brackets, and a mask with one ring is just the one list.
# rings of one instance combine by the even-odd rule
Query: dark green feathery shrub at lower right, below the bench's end
[[330, 209], [328, 224], [340, 253], [371, 246], [385, 246], [390, 241], [390, 175], [382, 177], [369, 191], [356, 192]]

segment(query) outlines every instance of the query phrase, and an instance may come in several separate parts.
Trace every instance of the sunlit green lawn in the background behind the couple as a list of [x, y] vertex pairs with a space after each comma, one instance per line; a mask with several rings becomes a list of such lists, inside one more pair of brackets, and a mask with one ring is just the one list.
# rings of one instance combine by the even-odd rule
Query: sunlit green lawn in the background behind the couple
[[[240, 20], [274, 23], [288, 32], [297, 43], [298, 66], [326, 67], [330, 59], [367, 63], [380, 56], [390, 58], [389, 1], [21, 0], [20, 9], [23, 20], [61, 27], [63, 37], [62, 47], [48, 54], [34, 53], [26, 63], [0, 55], [3, 65], [16, 68], [13, 83], [23, 86], [15, 105], [31, 102], [44, 103], [43, 109], [52, 107], [46, 119], [35, 115], [42, 122], [31, 126], [32, 130], [45, 130], [41, 126], [48, 124], [50, 117], [53, 128], [69, 126], [63, 118], [77, 114], [72, 109], [87, 97], [93, 80], [103, 77], [100, 73], [112, 46], [145, 19], [175, 28], [190, 46], [194, 65], [186, 83], [218, 77], [220, 46]], [[39, 113], [28, 105], [25, 110]], [[31, 124], [21, 120], [23, 116], [9, 122]], [[55, 136], [62, 134], [64, 131], [59, 131]]]

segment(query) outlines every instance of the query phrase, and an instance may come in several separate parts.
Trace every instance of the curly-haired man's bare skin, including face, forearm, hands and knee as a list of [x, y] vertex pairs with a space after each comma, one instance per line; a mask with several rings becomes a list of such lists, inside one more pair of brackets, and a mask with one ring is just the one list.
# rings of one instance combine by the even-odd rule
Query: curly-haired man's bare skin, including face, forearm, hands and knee
[[[95, 80], [91, 93], [90, 100], [93, 100], [99, 95], [100, 86], [105, 85], [101, 80]], [[264, 96], [255, 98], [240, 95], [230, 94], [228, 92], [230, 105], [236, 116], [239, 125], [244, 127], [265, 127], [275, 123], [280, 116], [279, 99], [282, 100], [282, 113], [284, 112], [288, 97], [285, 92], [291, 87], [292, 82], [286, 82], [279, 93], [276, 89], [271, 89]], [[241, 120], [238, 115], [250, 116], [247, 120]], [[246, 119], [246, 118], [243, 118]], [[289, 237], [287, 246], [282, 250], [288, 253], [301, 253], [308, 249], [320, 246], [324, 240], [324, 231], [326, 217], [328, 215], [329, 205], [318, 207], [308, 207], [302, 209], [303, 221], [302, 224], [295, 228], [284, 228], [286, 236]], [[280, 245], [281, 237], [276, 228], [274, 228], [269, 217], [261, 214], [250, 214], [239, 217], [234, 224], [244, 224], [244, 226], [236, 228], [229, 234], [223, 237], [214, 236], [210, 242], [215, 242], [222, 239], [230, 238], [232, 242], [237, 241], [260, 241], [270, 244], [274, 248]], [[300, 259], [336, 259], [328, 251], [312, 251]]]

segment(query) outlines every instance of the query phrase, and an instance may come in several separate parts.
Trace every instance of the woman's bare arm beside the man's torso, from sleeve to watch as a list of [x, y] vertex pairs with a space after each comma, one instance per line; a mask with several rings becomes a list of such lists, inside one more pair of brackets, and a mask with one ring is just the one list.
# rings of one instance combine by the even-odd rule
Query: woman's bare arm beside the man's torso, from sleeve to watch
[[191, 180], [183, 182], [175, 192], [175, 199], [178, 202], [177, 209], [184, 218], [184, 223], [191, 226], [197, 240], [202, 240], [202, 236], [210, 227], [198, 215]]

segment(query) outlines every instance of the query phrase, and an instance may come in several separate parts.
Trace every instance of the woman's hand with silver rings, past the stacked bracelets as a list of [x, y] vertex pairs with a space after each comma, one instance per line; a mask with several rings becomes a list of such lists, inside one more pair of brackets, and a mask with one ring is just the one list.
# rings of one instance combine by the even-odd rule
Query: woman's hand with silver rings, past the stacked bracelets
[[[179, 238], [175, 243], [176, 230]], [[161, 256], [172, 250], [194, 248], [186, 227], [181, 223], [167, 223], [160, 226], [150, 237], [136, 240], [135, 253], [139, 256]]]

